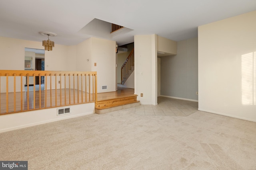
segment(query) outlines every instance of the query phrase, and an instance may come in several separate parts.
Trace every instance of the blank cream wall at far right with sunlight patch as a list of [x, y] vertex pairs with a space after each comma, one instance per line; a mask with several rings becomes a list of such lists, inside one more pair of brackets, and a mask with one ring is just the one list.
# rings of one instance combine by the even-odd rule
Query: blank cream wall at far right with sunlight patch
[[256, 11], [198, 27], [199, 110], [256, 121]]

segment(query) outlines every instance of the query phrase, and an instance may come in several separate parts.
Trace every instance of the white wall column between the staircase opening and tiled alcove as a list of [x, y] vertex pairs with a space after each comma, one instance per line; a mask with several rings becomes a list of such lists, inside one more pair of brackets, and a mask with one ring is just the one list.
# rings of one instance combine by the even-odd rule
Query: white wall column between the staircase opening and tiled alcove
[[157, 105], [156, 49], [155, 34], [134, 36], [134, 93], [141, 104]]

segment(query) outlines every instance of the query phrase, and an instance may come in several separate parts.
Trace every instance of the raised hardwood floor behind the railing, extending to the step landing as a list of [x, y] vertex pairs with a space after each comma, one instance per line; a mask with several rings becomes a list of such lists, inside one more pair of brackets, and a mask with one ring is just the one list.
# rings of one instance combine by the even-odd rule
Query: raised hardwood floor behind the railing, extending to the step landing
[[[32, 89], [33, 86], [30, 86]], [[46, 94], [45, 94], [46, 92]], [[52, 95], [51, 95], [52, 94]], [[119, 88], [116, 92], [106, 92], [106, 93], [98, 93], [97, 98], [98, 101], [115, 99], [115, 98], [123, 98], [127, 96], [133, 96], [134, 89], [130, 88]], [[45, 96], [46, 96], [46, 104], [45, 104]], [[52, 96], [52, 98], [50, 98]], [[56, 97], [55, 97], [56, 96]], [[90, 98], [90, 99], [89, 99]], [[78, 104], [83, 102], [93, 102], [95, 100], [95, 96], [92, 94], [88, 94], [83, 92], [83, 96], [81, 91], [71, 89], [69, 95], [69, 89], [66, 89], [66, 105]], [[41, 90], [41, 97], [39, 91], [35, 92], [35, 102], [34, 102], [34, 91], [22, 92], [22, 102], [21, 102], [21, 93], [16, 92], [16, 100], [14, 101], [14, 93], [8, 93], [8, 112], [20, 112], [27, 111], [29, 109], [43, 109], [49, 107], [58, 107], [65, 106], [65, 90], [61, 90], [61, 98], [60, 98], [60, 90]], [[0, 94], [0, 114], [6, 114], [6, 93]]]

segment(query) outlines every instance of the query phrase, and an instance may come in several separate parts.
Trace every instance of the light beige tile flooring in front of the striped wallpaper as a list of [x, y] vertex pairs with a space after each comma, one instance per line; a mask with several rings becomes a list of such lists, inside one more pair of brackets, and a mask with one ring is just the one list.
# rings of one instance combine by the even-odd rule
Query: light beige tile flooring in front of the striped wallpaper
[[198, 111], [198, 102], [158, 97], [158, 105], [140, 105], [126, 109], [145, 116], [188, 116]]

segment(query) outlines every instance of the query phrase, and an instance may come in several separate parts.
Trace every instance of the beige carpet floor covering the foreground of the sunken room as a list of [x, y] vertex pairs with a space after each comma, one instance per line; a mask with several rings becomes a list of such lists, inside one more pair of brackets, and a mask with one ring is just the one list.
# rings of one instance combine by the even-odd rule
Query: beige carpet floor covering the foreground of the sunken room
[[256, 123], [126, 109], [0, 133], [0, 160], [28, 160], [29, 170], [255, 170]]

